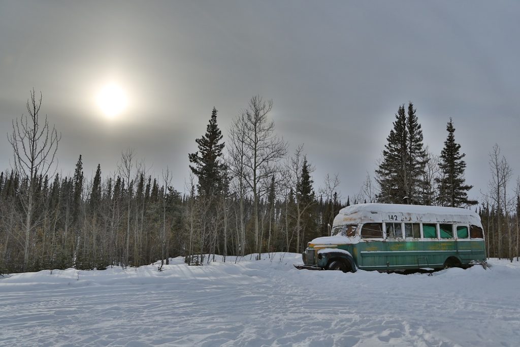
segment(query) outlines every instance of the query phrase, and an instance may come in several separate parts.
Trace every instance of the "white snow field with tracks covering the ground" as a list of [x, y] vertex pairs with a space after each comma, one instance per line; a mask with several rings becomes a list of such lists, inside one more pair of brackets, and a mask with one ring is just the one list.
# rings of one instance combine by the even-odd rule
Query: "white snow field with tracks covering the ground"
[[518, 262], [427, 276], [234, 260], [0, 277], [0, 345], [520, 345]]

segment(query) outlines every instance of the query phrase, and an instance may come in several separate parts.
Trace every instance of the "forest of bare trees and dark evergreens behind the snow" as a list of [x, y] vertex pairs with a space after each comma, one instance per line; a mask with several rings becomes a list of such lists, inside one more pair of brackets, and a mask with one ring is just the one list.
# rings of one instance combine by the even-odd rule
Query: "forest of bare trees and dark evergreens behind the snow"
[[[213, 108], [205, 133], [187, 153], [188, 194], [172, 186], [166, 166], [151, 174], [132, 149], [118, 171], [86, 177], [81, 153], [71, 177], [56, 173], [60, 133], [42, 116], [41, 93], [13, 120], [12, 167], [0, 173], [0, 274], [41, 269], [140, 266], [174, 256], [201, 265], [211, 255], [302, 252], [330, 232], [335, 214], [356, 203], [410, 203], [473, 209], [485, 229], [489, 257], [518, 256], [520, 178], [495, 145], [488, 191], [467, 197], [465, 154], [447, 120], [438, 155], [423, 143], [412, 102], [400, 105], [381, 159], [359, 191], [340, 199], [340, 177], [316, 184], [305, 148], [289, 152], [269, 115], [272, 100], [253, 96], [224, 138]], [[176, 163], [179, 165], [179, 163]], [[188, 162], [186, 163], [188, 164]]]

